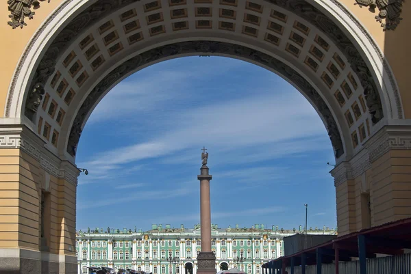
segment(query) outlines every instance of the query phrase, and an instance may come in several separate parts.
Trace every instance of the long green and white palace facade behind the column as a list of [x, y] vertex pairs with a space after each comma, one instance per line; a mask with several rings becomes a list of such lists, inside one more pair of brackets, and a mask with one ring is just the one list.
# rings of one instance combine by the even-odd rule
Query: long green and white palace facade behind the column
[[[264, 262], [284, 254], [283, 238], [303, 233], [298, 230], [271, 229], [256, 224], [251, 228], [218, 228], [212, 225], [212, 250], [216, 270], [236, 267], [249, 274], [262, 273]], [[310, 228], [308, 234], [336, 234], [336, 229]], [[153, 274], [197, 274], [197, 251], [201, 249], [200, 225], [171, 228], [152, 225], [151, 230], [95, 228], [76, 234], [78, 273], [88, 274], [87, 266], [135, 269]], [[238, 258], [243, 258], [238, 262]], [[169, 262], [170, 259], [175, 259]]]

